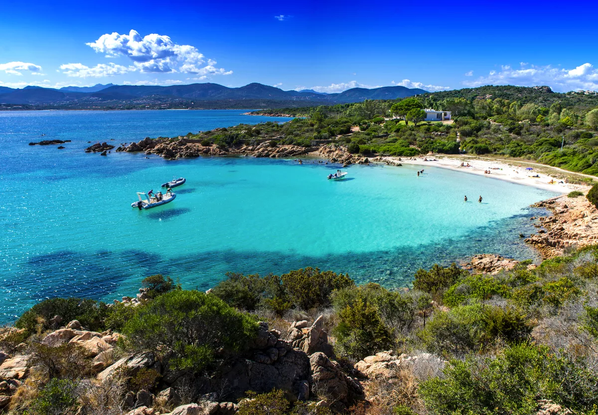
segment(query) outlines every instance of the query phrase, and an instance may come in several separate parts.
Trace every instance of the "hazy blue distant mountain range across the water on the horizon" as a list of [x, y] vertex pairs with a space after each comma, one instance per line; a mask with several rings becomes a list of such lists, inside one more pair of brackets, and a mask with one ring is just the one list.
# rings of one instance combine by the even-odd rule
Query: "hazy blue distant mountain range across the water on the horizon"
[[172, 85], [102, 85], [12, 89], [0, 87], [0, 107], [14, 106], [65, 109], [135, 109], [135, 108], [260, 108], [299, 107], [321, 104], [361, 102], [366, 99], [398, 99], [428, 91], [419, 88], [352, 88], [326, 94], [312, 90], [283, 91], [263, 84], [228, 88], [218, 84]]

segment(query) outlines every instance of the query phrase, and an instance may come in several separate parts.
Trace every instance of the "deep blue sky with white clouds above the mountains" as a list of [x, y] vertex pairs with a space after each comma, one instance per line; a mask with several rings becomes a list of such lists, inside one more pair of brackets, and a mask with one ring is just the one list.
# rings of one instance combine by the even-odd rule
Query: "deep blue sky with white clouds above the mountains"
[[0, 86], [598, 90], [596, 16], [590, 1], [4, 2]]

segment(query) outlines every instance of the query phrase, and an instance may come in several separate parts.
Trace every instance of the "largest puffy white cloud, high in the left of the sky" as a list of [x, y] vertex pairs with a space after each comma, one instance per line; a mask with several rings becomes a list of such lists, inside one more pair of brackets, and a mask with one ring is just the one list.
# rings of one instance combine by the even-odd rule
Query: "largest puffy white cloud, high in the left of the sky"
[[200, 75], [230, 75], [233, 71], [216, 68], [215, 60], [208, 59], [191, 45], [179, 45], [169, 36], [151, 33], [141, 37], [135, 30], [128, 35], [117, 32], [102, 35], [86, 45], [106, 57], [127, 56], [141, 72], [152, 73], [198, 73]]

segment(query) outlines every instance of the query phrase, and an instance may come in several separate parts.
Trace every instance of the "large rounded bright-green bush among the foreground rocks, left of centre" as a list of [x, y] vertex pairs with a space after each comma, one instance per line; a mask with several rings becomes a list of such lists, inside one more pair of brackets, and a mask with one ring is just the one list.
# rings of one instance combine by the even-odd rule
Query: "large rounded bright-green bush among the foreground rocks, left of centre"
[[245, 349], [257, 323], [216, 296], [176, 290], [141, 306], [123, 333], [134, 350], [172, 350], [174, 367], [200, 371], [215, 362], [217, 353]]

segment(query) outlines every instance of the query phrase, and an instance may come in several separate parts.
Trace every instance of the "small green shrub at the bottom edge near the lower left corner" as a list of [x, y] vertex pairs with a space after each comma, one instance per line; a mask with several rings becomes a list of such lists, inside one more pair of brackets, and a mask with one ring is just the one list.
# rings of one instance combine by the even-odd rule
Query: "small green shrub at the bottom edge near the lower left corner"
[[66, 379], [52, 379], [39, 392], [32, 404], [35, 415], [71, 415], [77, 408], [77, 383]]

